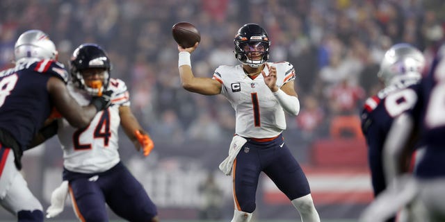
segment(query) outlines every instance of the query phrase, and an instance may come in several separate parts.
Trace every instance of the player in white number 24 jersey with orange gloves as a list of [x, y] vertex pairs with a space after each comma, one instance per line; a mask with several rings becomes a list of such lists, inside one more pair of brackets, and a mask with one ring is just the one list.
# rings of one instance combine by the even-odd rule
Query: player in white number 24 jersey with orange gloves
[[104, 90], [112, 90], [111, 105], [98, 112], [86, 128], [75, 128], [58, 119], [57, 135], [63, 148], [63, 183], [51, 195], [47, 217], [63, 210], [68, 190], [80, 221], [108, 221], [106, 204], [127, 221], [158, 221], [156, 206], [144, 187], [120, 161], [118, 129], [145, 156], [154, 144], [138, 123], [129, 105], [127, 85], [110, 78], [111, 61], [97, 44], [81, 44], [70, 61], [70, 94], [86, 104]]

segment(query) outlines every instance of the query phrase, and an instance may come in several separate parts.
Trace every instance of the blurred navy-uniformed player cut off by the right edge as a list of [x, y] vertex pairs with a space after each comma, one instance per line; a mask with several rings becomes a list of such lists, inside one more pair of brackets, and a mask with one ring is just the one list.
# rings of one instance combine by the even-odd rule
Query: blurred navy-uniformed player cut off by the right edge
[[[415, 88], [416, 104], [394, 119], [384, 147], [385, 153], [398, 154], [388, 155], [384, 162], [385, 174], [388, 180], [394, 182], [399, 180], [400, 156], [412, 148], [411, 139], [418, 137], [425, 147], [414, 171], [414, 178], [420, 187], [414, 201], [420, 202], [421, 209], [426, 212], [424, 221], [445, 219], [444, 55], [445, 47], [442, 46], [428, 76], [422, 78], [419, 87]], [[415, 209], [413, 212], [416, 212]]]

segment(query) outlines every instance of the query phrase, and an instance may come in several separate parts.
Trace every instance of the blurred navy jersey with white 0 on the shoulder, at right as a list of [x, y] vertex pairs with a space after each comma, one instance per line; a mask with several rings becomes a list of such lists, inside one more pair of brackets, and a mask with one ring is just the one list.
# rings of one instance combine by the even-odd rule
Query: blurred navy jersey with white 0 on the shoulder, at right
[[[410, 85], [410, 87], [407, 87]], [[395, 117], [409, 110], [416, 103], [416, 93], [412, 83], [389, 85], [376, 96], [366, 100], [361, 114], [362, 132], [368, 145], [368, 161], [374, 196], [386, 187], [383, 173], [383, 144]]]

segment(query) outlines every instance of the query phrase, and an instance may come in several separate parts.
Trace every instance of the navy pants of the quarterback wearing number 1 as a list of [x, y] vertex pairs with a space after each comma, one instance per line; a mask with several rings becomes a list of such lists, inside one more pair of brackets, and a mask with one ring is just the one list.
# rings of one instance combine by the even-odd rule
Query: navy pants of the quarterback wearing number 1
[[263, 171], [289, 200], [310, 194], [309, 182], [282, 136], [270, 142], [248, 139], [234, 162], [234, 200], [237, 210], [253, 212], [259, 174]]

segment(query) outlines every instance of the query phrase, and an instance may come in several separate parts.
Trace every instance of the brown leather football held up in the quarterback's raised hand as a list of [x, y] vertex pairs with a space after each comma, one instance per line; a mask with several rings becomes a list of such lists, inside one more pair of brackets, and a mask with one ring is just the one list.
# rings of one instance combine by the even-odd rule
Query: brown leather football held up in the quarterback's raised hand
[[175, 41], [184, 49], [201, 41], [200, 31], [190, 22], [178, 22], [173, 25], [172, 34]]

